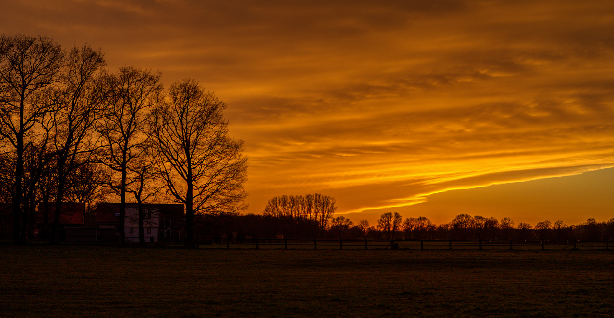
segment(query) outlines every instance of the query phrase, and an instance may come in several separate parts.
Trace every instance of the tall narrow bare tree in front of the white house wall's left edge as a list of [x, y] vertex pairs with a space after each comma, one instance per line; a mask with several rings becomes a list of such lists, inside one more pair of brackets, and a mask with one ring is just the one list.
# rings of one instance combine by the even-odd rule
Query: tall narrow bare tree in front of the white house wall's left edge
[[104, 139], [99, 158], [104, 165], [119, 174], [111, 186], [120, 196], [120, 242], [125, 243], [126, 176], [131, 160], [141, 155], [146, 138], [145, 123], [150, 108], [159, 102], [161, 73], [124, 66], [117, 74], [107, 76], [107, 101], [98, 133]]

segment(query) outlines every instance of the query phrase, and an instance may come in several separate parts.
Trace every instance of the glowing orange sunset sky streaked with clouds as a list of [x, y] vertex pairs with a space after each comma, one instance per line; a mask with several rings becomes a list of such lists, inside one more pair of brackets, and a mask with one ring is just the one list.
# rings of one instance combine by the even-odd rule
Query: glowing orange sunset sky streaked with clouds
[[250, 157], [247, 212], [516, 224], [614, 215], [612, 1], [0, 1], [0, 29], [200, 81]]

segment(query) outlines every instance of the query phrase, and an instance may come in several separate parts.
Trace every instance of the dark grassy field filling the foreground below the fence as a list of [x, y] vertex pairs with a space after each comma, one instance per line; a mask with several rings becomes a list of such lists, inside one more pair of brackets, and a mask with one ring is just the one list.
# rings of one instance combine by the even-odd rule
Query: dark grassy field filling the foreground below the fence
[[605, 250], [0, 247], [2, 317], [612, 317]]

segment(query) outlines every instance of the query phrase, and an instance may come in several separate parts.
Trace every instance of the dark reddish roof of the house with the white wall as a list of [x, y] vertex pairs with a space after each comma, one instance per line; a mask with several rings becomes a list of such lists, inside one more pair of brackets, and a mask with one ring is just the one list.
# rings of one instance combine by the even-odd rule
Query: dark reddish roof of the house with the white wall
[[[136, 203], [126, 203], [126, 208], [136, 209]], [[183, 204], [143, 203], [143, 209], [157, 209], [162, 219], [185, 219]], [[96, 223], [116, 223], [122, 219], [119, 215], [119, 203], [101, 202], [96, 204]]]

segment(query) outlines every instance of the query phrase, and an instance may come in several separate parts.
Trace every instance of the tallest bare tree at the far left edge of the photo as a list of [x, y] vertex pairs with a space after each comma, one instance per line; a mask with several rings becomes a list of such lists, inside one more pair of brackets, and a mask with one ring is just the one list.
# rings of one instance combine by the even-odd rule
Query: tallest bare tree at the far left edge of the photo
[[[0, 139], [17, 154], [13, 198], [13, 235], [20, 240], [20, 213], [23, 204], [23, 155], [36, 138], [36, 121], [53, 105], [33, 103], [33, 93], [60, 81], [66, 53], [46, 36], [5, 36], [0, 38]], [[42, 107], [41, 107], [42, 106]], [[6, 149], [6, 147], [3, 147]], [[23, 241], [23, 239], [22, 239]]]

